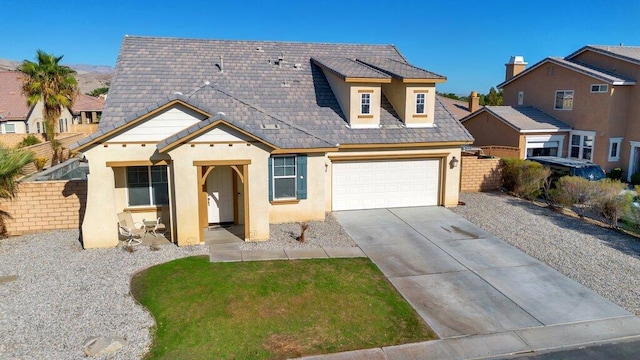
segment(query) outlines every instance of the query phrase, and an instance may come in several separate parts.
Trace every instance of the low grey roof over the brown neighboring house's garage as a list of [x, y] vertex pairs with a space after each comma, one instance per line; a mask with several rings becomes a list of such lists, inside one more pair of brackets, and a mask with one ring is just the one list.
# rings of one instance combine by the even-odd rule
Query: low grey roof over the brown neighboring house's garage
[[571, 130], [571, 126], [533, 106], [485, 106], [479, 112], [475, 112], [460, 121], [465, 122], [483, 111], [488, 111], [520, 132]]

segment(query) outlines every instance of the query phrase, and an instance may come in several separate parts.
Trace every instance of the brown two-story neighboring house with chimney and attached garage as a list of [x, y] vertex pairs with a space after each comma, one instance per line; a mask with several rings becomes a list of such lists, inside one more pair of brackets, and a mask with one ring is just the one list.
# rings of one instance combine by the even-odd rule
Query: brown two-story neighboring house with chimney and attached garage
[[526, 65], [520, 56], [506, 64], [505, 107], [463, 119], [476, 142], [640, 172], [640, 47], [589, 45]]

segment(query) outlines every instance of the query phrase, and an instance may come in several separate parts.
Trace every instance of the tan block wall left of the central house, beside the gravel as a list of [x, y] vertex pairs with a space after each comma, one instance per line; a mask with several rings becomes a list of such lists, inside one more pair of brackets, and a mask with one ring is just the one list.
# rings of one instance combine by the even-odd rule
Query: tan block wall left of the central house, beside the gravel
[[78, 229], [87, 203], [84, 180], [33, 181], [20, 183], [18, 196], [3, 201], [2, 210], [12, 219], [6, 220], [9, 235], [22, 235], [43, 230]]

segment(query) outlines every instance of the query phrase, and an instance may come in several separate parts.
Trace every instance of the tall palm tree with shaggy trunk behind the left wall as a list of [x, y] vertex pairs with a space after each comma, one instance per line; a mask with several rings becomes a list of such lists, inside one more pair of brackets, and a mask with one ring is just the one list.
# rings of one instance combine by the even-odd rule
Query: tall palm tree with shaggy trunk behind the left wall
[[18, 66], [24, 73], [22, 94], [27, 98], [27, 105], [34, 106], [42, 101], [42, 117], [47, 141], [51, 142], [53, 156], [51, 164], [57, 163], [60, 142], [56, 140], [56, 120], [63, 108], [71, 108], [78, 93], [78, 83], [73, 76], [75, 71], [68, 66], [60, 65], [62, 56], [54, 56], [42, 50], [37, 51], [38, 62], [25, 60]]

